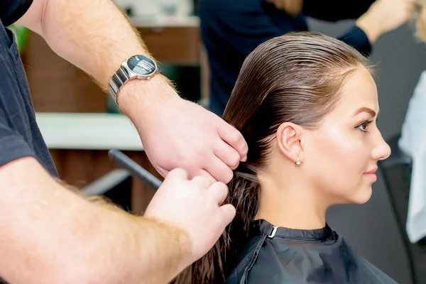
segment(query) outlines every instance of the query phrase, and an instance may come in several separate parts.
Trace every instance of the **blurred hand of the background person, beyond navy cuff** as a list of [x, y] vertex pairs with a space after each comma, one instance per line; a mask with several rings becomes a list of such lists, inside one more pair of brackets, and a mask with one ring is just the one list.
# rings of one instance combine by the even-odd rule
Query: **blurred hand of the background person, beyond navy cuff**
[[356, 21], [356, 26], [366, 33], [370, 43], [374, 43], [383, 33], [388, 33], [408, 21], [413, 6], [413, 0], [377, 0]]

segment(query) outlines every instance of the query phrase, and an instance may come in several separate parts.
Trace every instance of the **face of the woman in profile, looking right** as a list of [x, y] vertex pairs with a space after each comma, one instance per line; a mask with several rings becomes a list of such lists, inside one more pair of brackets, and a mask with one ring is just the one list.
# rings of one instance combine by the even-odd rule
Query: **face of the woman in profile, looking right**
[[342, 89], [342, 97], [319, 129], [302, 141], [303, 169], [331, 204], [364, 203], [376, 182], [378, 160], [391, 149], [377, 129], [378, 97], [369, 72], [360, 67]]

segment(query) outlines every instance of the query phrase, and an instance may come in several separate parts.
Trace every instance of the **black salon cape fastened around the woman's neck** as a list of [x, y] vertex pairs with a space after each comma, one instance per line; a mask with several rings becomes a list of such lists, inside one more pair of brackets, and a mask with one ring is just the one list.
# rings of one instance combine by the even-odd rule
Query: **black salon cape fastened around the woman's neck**
[[395, 284], [388, 275], [356, 256], [346, 241], [327, 225], [300, 230], [256, 220], [241, 261], [228, 284]]

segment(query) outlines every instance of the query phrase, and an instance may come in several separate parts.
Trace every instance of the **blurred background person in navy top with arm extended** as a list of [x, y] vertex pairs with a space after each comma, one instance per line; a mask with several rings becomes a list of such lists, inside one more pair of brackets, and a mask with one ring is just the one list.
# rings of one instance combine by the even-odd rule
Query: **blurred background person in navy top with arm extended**
[[405, 23], [409, 0], [203, 0], [202, 40], [211, 72], [209, 109], [222, 116], [242, 62], [260, 43], [292, 31], [308, 31], [307, 16], [324, 21], [357, 18], [340, 40], [364, 55], [383, 33]]

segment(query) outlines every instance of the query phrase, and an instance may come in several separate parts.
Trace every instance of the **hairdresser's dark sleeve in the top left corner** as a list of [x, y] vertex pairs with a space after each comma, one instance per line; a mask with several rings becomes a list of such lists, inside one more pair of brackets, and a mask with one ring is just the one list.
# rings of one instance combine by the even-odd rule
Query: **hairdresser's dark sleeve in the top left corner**
[[1, 0], [0, 19], [3, 26], [10, 26], [28, 11], [33, 0]]

